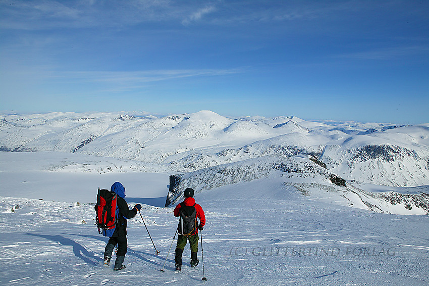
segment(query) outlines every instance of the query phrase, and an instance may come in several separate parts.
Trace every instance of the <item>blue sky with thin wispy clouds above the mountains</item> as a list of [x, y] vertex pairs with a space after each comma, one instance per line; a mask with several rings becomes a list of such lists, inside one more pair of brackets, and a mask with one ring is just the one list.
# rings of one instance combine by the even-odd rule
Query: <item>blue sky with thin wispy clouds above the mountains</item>
[[429, 1], [0, 0], [0, 110], [429, 123]]

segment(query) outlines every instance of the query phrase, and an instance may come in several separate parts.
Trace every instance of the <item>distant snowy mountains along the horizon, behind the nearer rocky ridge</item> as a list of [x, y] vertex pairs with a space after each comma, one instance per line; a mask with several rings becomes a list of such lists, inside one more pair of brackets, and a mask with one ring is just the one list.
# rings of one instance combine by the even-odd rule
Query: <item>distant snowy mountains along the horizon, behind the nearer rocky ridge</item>
[[165, 117], [112, 113], [2, 115], [2, 151], [61, 151], [189, 172], [265, 155], [312, 155], [339, 176], [386, 186], [429, 184], [429, 124]]

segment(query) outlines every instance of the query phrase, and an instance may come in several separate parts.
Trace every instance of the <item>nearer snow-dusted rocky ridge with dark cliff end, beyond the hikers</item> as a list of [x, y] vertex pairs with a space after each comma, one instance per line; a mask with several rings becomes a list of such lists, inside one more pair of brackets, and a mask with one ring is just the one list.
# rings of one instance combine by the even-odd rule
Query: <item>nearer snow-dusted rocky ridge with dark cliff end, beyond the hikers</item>
[[[326, 202], [393, 214], [429, 214], [429, 186], [385, 187], [346, 181], [312, 156], [267, 155], [170, 176], [166, 207], [183, 200], [183, 189], [202, 190], [270, 179], [276, 189]], [[266, 190], [261, 189], [261, 192]]]

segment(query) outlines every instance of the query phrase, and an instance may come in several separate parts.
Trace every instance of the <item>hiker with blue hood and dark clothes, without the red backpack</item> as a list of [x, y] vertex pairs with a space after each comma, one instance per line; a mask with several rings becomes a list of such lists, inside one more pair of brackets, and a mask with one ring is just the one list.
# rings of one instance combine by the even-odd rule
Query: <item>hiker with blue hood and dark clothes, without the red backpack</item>
[[127, 253], [127, 219], [136, 216], [137, 211], [140, 211], [141, 205], [137, 204], [133, 209], [128, 208], [125, 201], [125, 187], [120, 182], [115, 182], [110, 188], [111, 192], [116, 193], [117, 196], [117, 209], [119, 210], [119, 220], [116, 225], [115, 231], [109, 238], [109, 242], [104, 249], [104, 267], [109, 267], [112, 258], [112, 252], [116, 245], [118, 245], [118, 252], [116, 253], [115, 266], [113, 270], [121, 270], [125, 268], [124, 259]]

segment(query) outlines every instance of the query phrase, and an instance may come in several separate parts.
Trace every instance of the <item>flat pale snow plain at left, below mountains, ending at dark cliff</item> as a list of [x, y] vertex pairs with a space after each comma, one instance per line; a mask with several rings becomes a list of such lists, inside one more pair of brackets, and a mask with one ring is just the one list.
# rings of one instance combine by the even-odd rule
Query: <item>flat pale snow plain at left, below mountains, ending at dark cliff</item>
[[[124, 180], [128, 197], [165, 205], [169, 173], [132, 160], [61, 152], [0, 152], [0, 196], [95, 202], [98, 186]], [[160, 203], [162, 202], [162, 203]]]

